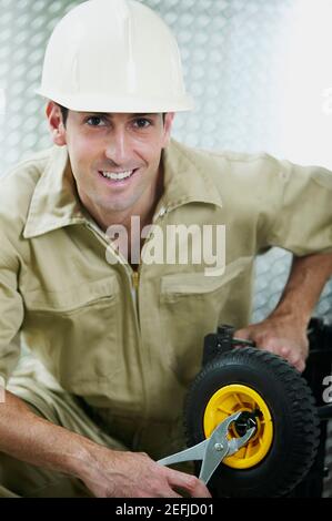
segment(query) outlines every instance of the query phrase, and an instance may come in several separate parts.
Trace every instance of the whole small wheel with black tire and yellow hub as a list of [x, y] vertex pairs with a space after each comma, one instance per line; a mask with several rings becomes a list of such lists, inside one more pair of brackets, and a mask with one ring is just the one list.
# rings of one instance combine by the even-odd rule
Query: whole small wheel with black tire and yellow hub
[[209, 438], [237, 411], [243, 415], [231, 426], [231, 436], [243, 436], [253, 425], [256, 432], [218, 467], [209, 482], [212, 496], [286, 496], [310, 470], [319, 446], [311, 389], [279, 356], [234, 348], [207, 364], [190, 388], [184, 407], [188, 446]]

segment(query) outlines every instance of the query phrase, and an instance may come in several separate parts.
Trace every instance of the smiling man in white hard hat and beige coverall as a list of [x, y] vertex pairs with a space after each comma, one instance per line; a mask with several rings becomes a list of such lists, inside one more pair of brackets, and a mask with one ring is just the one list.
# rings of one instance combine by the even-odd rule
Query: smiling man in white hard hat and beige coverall
[[[56, 146], [0, 191], [0, 492], [209, 497], [153, 460], [183, 447], [183, 398], [218, 324], [303, 369], [331, 274], [331, 173], [170, 141], [192, 103], [173, 37], [139, 2], [70, 11], [40, 92]], [[169, 262], [148, 262], [169, 227], [219, 225], [225, 269], [197, 260], [195, 234], [187, 263], [170, 262], [170, 237]], [[253, 259], [273, 245], [301, 258], [275, 311], [248, 327]], [[14, 370], [20, 337], [49, 372], [30, 360]]]

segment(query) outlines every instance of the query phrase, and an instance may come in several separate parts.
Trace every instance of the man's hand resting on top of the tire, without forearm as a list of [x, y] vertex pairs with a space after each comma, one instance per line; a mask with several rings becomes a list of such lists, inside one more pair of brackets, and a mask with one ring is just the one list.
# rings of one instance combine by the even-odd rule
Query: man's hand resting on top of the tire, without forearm
[[265, 320], [235, 331], [234, 337], [253, 340], [258, 348], [280, 355], [300, 372], [309, 353], [306, 327], [290, 316], [270, 316]]

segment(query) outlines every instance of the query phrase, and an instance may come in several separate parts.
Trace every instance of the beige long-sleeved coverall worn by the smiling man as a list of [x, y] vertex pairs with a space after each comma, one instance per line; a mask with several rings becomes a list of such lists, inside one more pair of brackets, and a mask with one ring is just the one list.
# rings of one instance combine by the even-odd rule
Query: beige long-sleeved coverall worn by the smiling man
[[[123, 259], [110, 264], [107, 248], [117, 254], [80, 205], [66, 147], [0, 180], [0, 376], [54, 423], [153, 459], [183, 446], [183, 397], [204, 336], [249, 323], [255, 255], [332, 248], [331, 172], [175, 141], [162, 161], [154, 224], [225, 225], [224, 274], [207, 276], [204, 260], [145, 264], [153, 235], [139, 280]], [[22, 344], [49, 376], [29, 358], [16, 369]], [[0, 486], [2, 496], [87, 493], [78, 480], [6, 454]]]

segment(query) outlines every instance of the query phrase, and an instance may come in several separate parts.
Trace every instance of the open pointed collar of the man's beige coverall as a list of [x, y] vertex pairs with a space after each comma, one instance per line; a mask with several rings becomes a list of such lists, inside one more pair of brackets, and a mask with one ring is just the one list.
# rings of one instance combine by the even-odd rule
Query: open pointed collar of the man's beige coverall
[[[222, 206], [221, 197], [209, 172], [199, 170], [187, 154], [185, 146], [171, 140], [163, 151], [164, 192], [155, 215], [163, 208], [172, 211], [188, 203], [208, 203]], [[50, 161], [39, 178], [32, 195], [24, 227], [24, 238], [87, 221], [72, 176], [66, 146], [54, 146]]]

